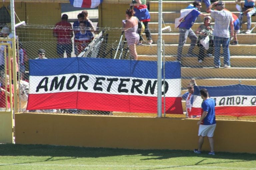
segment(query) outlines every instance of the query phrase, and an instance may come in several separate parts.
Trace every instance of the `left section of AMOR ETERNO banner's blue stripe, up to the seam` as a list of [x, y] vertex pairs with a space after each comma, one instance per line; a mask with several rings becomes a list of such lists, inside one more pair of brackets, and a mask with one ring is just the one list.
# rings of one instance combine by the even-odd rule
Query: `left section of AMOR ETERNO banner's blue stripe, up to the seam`
[[50, 76], [78, 73], [78, 57], [55, 59], [30, 59], [30, 76]]

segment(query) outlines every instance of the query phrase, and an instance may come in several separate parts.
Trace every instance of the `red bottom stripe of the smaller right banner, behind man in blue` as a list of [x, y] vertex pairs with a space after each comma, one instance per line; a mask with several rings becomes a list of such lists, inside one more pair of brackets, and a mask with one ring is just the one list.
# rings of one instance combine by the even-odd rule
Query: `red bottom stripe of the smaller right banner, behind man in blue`
[[[201, 115], [201, 108], [191, 109], [190, 115]], [[255, 116], [255, 106], [228, 106], [228, 107], [215, 107], [215, 115], [225, 116]]]

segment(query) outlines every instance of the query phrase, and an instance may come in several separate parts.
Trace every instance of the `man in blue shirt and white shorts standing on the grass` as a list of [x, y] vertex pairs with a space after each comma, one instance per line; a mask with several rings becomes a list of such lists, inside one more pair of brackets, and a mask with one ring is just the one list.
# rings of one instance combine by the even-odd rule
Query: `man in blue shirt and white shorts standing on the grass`
[[198, 149], [194, 149], [194, 152], [197, 154], [201, 153], [202, 145], [204, 143], [204, 137], [207, 136], [210, 144], [211, 151], [208, 153], [209, 155], [215, 155], [214, 152], [214, 142], [213, 142], [213, 133], [216, 128], [215, 121], [215, 100], [210, 98], [207, 89], [203, 88], [200, 90], [201, 98], [203, 99], [202, 107], [202, 115], [201, 119], [197, 122], [199, 125], [198, 130]]

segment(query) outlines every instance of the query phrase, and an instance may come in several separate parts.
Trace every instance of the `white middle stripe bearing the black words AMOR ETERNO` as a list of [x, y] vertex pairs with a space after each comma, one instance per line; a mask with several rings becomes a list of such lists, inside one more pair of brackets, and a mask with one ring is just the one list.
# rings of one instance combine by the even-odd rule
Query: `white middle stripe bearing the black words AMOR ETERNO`
[[[157, 96], [157, 79], [116, 77], [92, 74], [29, 76], [29, 94], [91, 92], [136, 96]], [[165, 79], [166, 97], [180, 96], [181, 79]], [[162, 86], [163, 91], [163, 86]]]

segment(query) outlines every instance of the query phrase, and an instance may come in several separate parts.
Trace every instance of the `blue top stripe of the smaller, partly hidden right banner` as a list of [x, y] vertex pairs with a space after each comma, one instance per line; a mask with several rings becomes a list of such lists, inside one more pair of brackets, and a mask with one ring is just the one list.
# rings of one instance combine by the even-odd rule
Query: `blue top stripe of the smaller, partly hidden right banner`
[[195, 86], [194, 95], [200, 96], [200, 89], [202, 88], [206, 88], [211, 97], [235, 95], [256, 96], [256, 86], [242, 84], [230, 86]]

